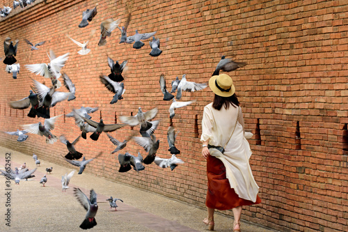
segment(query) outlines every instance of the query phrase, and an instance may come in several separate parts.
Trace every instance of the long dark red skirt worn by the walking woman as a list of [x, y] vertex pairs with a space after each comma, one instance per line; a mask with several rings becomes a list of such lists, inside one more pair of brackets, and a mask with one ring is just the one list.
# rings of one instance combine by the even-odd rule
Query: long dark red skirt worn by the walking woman
[[208, 190], [205, 205], [217, 210], [230, 210], [238, 206], [251, 206], [261, 203], [257, 196], [256, 201], [248, 201], [235, 193], [226, 178], [226, 168], [218, 158], [209, 155], [207, 159]]

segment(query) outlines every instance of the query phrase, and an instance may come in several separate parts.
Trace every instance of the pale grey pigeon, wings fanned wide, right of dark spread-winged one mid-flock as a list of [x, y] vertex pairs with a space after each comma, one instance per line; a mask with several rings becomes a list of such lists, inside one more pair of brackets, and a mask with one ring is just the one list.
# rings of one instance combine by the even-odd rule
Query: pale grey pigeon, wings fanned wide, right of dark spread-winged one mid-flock
[[141, 107], [139, 107], [138, 114], [136, 114], [136, 116], [120, 116], [120, 121], [122, 121], [122, 123], [130, 125], [131, 127], [134, 127], [140, 123], [141, 132], [145, 132], [152, 127], [152, 123], [150, 123], [149, 120], [155, 118], [157, 112], [158, 109], [155, 107], [154, 109], [143, 113]]

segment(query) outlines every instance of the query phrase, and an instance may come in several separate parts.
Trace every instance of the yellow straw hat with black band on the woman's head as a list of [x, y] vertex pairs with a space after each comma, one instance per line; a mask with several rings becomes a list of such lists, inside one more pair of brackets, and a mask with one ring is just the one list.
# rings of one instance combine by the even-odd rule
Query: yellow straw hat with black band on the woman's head
[[209, 87], [216, 95], [221, 97], [230, 97], [235, 93], [232, 78], [224, 73], [219, 76], [210, 77]]

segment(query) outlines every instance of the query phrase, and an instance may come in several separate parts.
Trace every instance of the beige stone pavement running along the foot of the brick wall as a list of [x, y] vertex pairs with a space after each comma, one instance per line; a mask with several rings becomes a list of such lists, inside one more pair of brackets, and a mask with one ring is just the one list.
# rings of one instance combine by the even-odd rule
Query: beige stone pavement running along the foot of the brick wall
[[[11, 153], [13, 169], [24, 162], [29, 170], [35, 168], [31, 156], [0, 147], [0, 169], [5, 167], [5, 154], [8, 152]], [[0, 231], [82, 231], [79, 225], [86, 211], [73, 196], [72, 187], [79, 187], [88, 197], [92, 188], [97, 193], [97, 226], [90, 231], [207, 231], [207, 226], [202, 222], [207, 215], [203, 208], [90, 173], [78, 175], [76, 171], [70, 180], [70, 188], [66, 193], [62, 192], [61, 176], [75, 168], [68, 163], [62, 167], [38, 158], [41, 165], [34, 173], [35, 178], [21, 180], [19, 185], [11, 181], [10, 191], [6, 190], [6, 179], [0, 177]], [[53, 171], [47, 174], [46, 187], [42, 187], [39, 182], [46, 174], [47, 167], [53, 167]], [[6, 206], [6, 192], [10, 192], [10, 206]], [[109, 196], [124, 201], [117, 201], [117, 211], [110, 209], [109, 202], [105, 201]], [[6, 226], [5, 220], [8, 209], [10, 227]], [[232, 222], [232, 217], [216, 213], [215, 231], [232, 231]], [[274, 230], [242, 222], [242, 231]]]

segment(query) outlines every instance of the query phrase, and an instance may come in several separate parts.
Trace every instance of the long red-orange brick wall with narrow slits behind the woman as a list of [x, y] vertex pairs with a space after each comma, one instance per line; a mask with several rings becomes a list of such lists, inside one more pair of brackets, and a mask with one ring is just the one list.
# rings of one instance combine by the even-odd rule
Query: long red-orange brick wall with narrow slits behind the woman
[[[3, 2], [8, 5], [9, 1], [0, 1], [0, 6]], [[93, 119], [98, 121], [102, 115], [105, 123], [113, 123], [115, 115], [119, 118], [132, 111], [136, 114], [138, 107], [144, 111], [158, 107], [158, 155], [170, 157], [166, 130], [171, 102], [161, 100], [159, 76], [166, 75], [167, 86], [183, 74], [190, 81], [207, 82], [221, 55], [234, 57], [248, 63], [230, 75], [242, 102], [246, 128], [255, 133], [250, 140], [251, 167], [262, 198], [262, 204], [245, 207], [242, 218], [280, 231], [348, 231], [348, 165], [344, 150], [348, 148], [347, 1], [54, 2], [37, 1], [36, 6], [15, 15], [16, 9], [0, 22], [1, 39], [20, 39], [16, 58], [22, 65], [17, 80], [1, 65], [1, 130], [16, 130], [19, 125], [38, 122], [26, 117], [29, 110], [10, 109], [7, 103], [28, 95], [31, 78], [49, 84], [47, 79], [26, 70], [24, 64], [47, 63], [46, 52], [51, 48], [57, 55], [70, 52], [62, 71], [77, 87], [77, 99], [59, 103], [52, 109], [53, 115], [69, 113], [81, 105], [98, 106], [101, 113], [95, 112]], [[148, 55], [148, 41], [140, 50], [118, 44], [117, 29], [107, 38], [106, 46], [97, 46], [100, 23], [111, 17], [124, 23], [126, 3], [132, 9], [128, 34], [133, 35], [135, 29], [139, 33], [157, 31], [164, 51], [161, 56]], [[95, 19], [79, 29], [82, 11], [96, 4]], [[78, 47], [65, 33], [83, 42], [92, 29], [97, 33], [88, 45], [91, 52], [80, 56]], [[24, 38], [47, 42], [32, 52]], [[109, 105], [113, 95], [98, 78], [100, 73], [109, 73], [107, 56], [129, 61], [124, 99], [116, 105]], [[174, 126], [180, 130], [177, 148], [182, 153], [178, 157], [185, 162], [175, 171], [152, 164], [139, 173], [118, 173], [117, 156], [110, 154], [114, 146], [106, 134], [97, 142], [88, 138], [77, 144], [76, 148], [88, 158], [104, 151], [86, 171], [204, 206], [205, 160], [200, 154], [195, 119], [197, 115], [200, 134], [203, 107], [211, 102], [212, 93], [206, 88], [183, 94], [182, 100], [192, 99], [197, 100], [196, 104], [178, 109], [173, 118]], [[79, 129], [72, 118], [62, 117], [53, 133], [65, 134], [72, 140]], [[111, 134], [123, 139], [129, 136], [129, 127]], [[67, 150], [60, 142], [47, 145], [45, 138], [30, 134], [27, 141], [19, 144], [14, 137], [1, 134], [0, 144], [68, 165], [61, 158]], [[140, 150], [145, 155], [133, 141], [127, 150]], [[225, 213], [232, 215], [231, 211]]]

